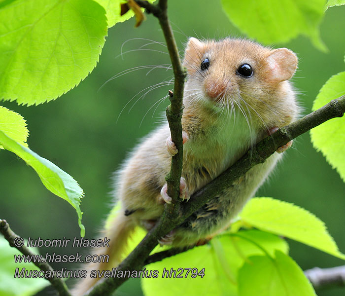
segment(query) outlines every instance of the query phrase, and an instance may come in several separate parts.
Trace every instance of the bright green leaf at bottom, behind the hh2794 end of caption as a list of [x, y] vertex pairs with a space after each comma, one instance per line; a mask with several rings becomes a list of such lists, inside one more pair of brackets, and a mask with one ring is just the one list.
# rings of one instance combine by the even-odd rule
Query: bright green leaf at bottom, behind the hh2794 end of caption
[[[259, 246], [259, 247], [258, 247]], [[264, 251], [265, 250], [265, 251]], [[238, 234], [225, 233], [210, 241], [210, 244], [195, 247], [187, 252], [151, 263], [147, 270], [158, 270], [158, 278], [141, 280], [146, 296], [227, 295], [237, 296], [237, 271], [248, 256], [274, 254], [275, 250], [287, 253], [287, 243], [271, 233], [259, 230], [242, 230]], [[162, 278], [164, 268], [205, 268], [201, 278]], [[185, 273], [183, 273], [185, 276]]]

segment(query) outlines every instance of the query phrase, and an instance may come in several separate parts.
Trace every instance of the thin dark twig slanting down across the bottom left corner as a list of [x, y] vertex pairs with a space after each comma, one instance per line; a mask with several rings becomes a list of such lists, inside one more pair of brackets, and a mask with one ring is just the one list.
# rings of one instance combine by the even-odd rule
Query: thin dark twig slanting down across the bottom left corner
[[[15, 247], [18, 251], [20, 251], [24, 255], [28, 256], [35, 256], [36, 254], [31, 252], [29, 248], [27, 248], [25, 245], [22, 247], [18, 246], [18, 243], [15, 243], [15, 239], [19, 237], [17, 234], [15, 234], [11, 228], [9, 227], [6, 220], [0, 220], [0, 232], [4, 236], [4, 238], [9, 242], [9, 245], [11, 247]], [[53, 268], [46, 262], [33, 262], [40, 270], [43, 271], [51, 271], [53, 272]], [[67, 288], [66, 283], [59, 279], [56, 275], [53, 277], [45, 278], [48, 280], [52, 286], [55, 288], [55, 290], [58, 292], [60, 296], [71, 296], [69, 293], [69, 290]]]

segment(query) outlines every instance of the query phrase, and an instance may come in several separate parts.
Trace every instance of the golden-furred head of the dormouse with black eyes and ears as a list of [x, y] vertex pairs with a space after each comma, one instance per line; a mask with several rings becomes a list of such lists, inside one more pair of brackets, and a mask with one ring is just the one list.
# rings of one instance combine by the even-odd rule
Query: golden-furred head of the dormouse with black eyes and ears
[[277, 125], [277, 116], [284, 125], [296, 115], [287, 80], [297, 69], [297, 57], [287, 48], [271, 49], [245, 39], [192, 37], [183, 65], [188, 70], [185, 105], [192, 103], [194, 91], [201, 104], [219, 111], [240, 109], [266, 126]]

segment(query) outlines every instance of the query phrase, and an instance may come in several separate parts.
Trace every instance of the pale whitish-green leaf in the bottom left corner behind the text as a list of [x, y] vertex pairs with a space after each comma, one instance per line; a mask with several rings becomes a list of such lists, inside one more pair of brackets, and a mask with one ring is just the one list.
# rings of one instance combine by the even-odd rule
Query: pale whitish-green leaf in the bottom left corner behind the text
[[[37, 250], [30, 248], [35, 254]], [[21, 255], [21, 253], [11, 248], [2, 236], [0, 236], [0, 295], [1, 296], [31, 296], [36, 295], [37, 292], [44, 287], [49, 286], [50, 283], [44, 278], [14, 278], [15, 269], [22, 268], [27, 270], [39, 270], [31, 262], [14, 262], [14, 255]]]

